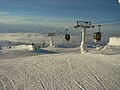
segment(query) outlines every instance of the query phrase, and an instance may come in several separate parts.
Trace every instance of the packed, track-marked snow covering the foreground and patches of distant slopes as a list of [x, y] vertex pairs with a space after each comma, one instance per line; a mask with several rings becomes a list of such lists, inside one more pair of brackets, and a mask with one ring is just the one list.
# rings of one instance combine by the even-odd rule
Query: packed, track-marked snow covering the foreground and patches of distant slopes
[[[7, 37], [10, 45], [24, 40]], [[72, 42], [56, 40], [56, 47], [37, 51], [0, 51], [0, 90], [120, 90], [120, 49], [92, 48], [80, 54], [79, 43]]]

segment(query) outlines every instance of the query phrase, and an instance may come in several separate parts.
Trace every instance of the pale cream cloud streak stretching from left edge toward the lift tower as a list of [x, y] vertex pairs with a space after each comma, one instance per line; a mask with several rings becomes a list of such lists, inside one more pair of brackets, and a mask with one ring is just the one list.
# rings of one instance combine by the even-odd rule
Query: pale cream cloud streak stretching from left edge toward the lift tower
[[34, 25], [34, 26], [49, 26], [54, 28], [67, 27], [73, 23], [71, 18], [64, 17], [49, 17], [36, 15], [13, 15], [9, 12], [0, 12], [0, 23], [11, 25]]

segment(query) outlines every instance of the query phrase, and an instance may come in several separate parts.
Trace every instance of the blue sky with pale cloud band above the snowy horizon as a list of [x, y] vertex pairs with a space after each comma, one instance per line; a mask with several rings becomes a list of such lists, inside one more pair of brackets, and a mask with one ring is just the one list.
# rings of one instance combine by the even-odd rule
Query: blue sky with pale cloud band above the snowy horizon
[[62, 33], [84, 20], [120, 20], [118, 0], [0, 0], [0, 32]]

